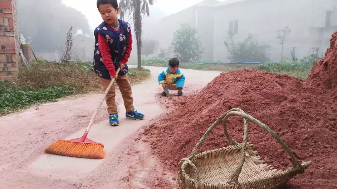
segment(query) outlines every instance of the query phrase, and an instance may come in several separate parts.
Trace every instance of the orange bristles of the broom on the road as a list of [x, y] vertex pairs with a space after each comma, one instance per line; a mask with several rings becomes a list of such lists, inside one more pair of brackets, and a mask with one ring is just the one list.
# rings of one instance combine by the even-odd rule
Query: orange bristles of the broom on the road
[[104, 158], [104, 146], [100, 143], [84, 143], [58, 140], [44, 149], [44, 153], [81, 157], [90, 159]]

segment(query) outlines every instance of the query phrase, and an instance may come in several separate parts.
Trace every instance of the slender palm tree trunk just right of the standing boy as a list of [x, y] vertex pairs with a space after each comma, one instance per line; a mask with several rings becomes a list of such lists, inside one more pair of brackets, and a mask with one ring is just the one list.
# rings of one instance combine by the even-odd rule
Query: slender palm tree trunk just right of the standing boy
[[142, 67], [142, 16], [141, 16], [141, 5], [139, 1], [135, 1], [134, 9], [134, 33], [137, 42], [137, 69]]

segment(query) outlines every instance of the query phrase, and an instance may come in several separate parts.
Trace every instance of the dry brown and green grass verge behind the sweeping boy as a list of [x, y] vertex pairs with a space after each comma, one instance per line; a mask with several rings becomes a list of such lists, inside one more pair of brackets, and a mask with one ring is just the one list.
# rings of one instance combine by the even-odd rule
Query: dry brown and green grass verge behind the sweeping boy
[[[131, 84], [150, 77], [150, 70], [129, 69]], [[75, 93], [102, 92], [92, 62], [34, 61], [32, 69], [19, 64], [18, 77], [0, 81], [0, 116], [36, 103], [55, 101]]]

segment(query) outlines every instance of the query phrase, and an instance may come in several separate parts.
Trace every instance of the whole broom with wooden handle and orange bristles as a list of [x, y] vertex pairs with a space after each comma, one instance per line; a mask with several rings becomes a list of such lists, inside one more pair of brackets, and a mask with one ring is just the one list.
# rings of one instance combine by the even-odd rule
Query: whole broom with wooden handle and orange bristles
[[[117, 69], [117, 75], [119, 73], [120, 68]], [[104, 158], [103, 152], [103, 144], [94, 142], [90, 139], [87, 139], [87, 135], [91, 128], [91, 125], [94, 122], [94, 119], [97, 115], [99, 108], [101, 107], [106, 94], [108, 94], [109, 89], [114, 84], [115, 78], [113, 78], [106, 88], [103, 97], [99, 101], [99, 104], [91, 117], [90, 123], [85, 130], [83, 136], [81, 138], [76, 138], [72, 140], [58, 140], [55, 143], [49, 145], [44, 149], [44, 153], [55, 154], [55, 155], [63, 155], [70, 157], [81, 157], [81, 158], [90, 158], [90, 159], [102, 159]]]

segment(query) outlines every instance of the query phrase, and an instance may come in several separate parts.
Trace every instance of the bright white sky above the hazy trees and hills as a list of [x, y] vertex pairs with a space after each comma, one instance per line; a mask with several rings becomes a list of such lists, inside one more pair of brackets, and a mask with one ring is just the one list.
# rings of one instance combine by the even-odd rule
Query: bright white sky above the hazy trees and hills
[[[155, 3], [153, 7], [162, 10], [165, 15], [169, 15], [179, 12], [203, 0], [156, 0], [156, 1], [157, 3]], [[89, 20], [89, 25], [91, 28], [96, 28], [96, 26], [98, 26], [102, 22], [102, 18], [96, 8], [96, 0], [62, 0], [62, 2], [65, 5], [73, 7], [81, 11], [84, 15], [86, 15], [87, 19]]]

